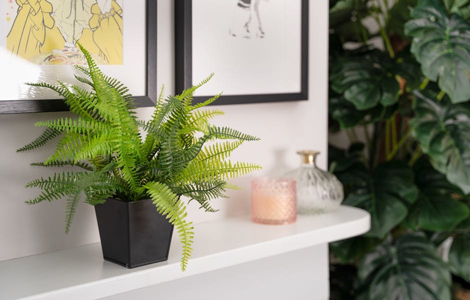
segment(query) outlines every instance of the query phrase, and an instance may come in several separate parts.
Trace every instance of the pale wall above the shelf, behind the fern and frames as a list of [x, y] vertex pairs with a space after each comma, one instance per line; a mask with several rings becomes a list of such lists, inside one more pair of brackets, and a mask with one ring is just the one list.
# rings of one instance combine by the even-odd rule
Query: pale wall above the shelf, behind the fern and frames
[[[294, 168], [299, 159], [295, 150], [314, 148], [322, 152], [319, 165], [326, 166], [327, 149], [327, 11], [328, 1], [310, 1], [309, 9], [309, 100], [284, 103], [219, 106], [226, 114], [215, 122], [229, 125], [262, 139], [249, 142], [233, 153], [233, 160], [261, 164], [263, 174]], [[174, 92], [173, 1], [158, 0], [158, 86]], [[197, 41], [193, 41], [197, 42]], [[223, 90], [223, 86], [220, 86]], [[151, 108], [139, 108], [138, 116], [148, 118]], [[51, 169], [30, 166], [50, 153], [44, 148], [31, 153], [15, 149], [40, 132], [35, 121], [67, 115], [64, 112], [0, 115], [0, 260], [53, 251], [99, 240], [93, 207], [80, 203], [68, 234], [64, 231], [64, 201], [26, 205], [24, 200], [37, 190], [24, 184], [52, 173]], [[280, 153], [280, 154], [279, 154]], [[283, 153], [283, 154], [282, 154]], [[281, 166], [281, 167], [279, 167]], [[249, 212], [250, 177], [233, 182], [241, 191], [230, 192], [230, 199], [213, 201], [216, 213], [203, 213], [191, 203], [190, 218], [196, 222]], [[192, 205], [194, 204], [194, 205]]]

